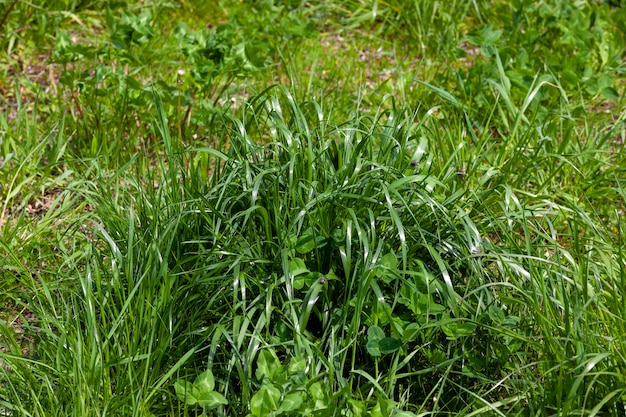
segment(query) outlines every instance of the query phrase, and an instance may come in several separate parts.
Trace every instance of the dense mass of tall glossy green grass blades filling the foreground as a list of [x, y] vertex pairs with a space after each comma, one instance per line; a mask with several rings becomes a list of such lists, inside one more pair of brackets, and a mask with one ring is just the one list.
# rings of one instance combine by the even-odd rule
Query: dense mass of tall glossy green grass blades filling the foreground
[[35, 343], [0, 353], [0, 409], [621, 415], [623, 243], [568, 180], [623, 202], [595, 139], [387, 100], [336, 124], [273, 87], [211, 119], [216, 148], [156, 97], [157, 163], [88, 164], [68, 279], [19, 278]]

